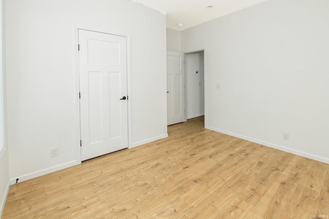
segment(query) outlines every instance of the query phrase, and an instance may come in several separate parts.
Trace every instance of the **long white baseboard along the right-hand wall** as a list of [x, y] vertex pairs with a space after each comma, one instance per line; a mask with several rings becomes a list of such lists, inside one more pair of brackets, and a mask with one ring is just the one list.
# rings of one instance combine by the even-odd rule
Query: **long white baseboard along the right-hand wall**
[[248, 137], [248, 136], [244, 136], [244, 135], [241, 135], [241, 134], [236, 134], [236, 133], [233, 133], [233, 132], [229, 132], [229, 131], [225, 131], [225, 130], [221, 130], [221, 129], [216, 129], [216, 128], [213, 128], [213, 127], [210, 127], [210, 126], [207, 126], [206, 128], [210, 129], [212, 131], [221, 132], [223, 134], [228, 134], [228, 135], [231, 135], [231, 136], [234, 136], [234, 137], [239, 137], [239, 138], [247, 140], [249, 142], [254, 142], [254, 143], [264, 145], [264, 146], [267, 146], [267, 147], [270, 147], [270, 148], [275, 148], [275, 149], [278, 149], [278, 150], [281, 150], [281, 151], [285, 151], [285, 152], [288, 152], [288, 153], [292, 153], [292, 154], [296, 154], [296, 155], [299, 155], [299, 156], [307, 157], [307, 158], [310, 158], [310, 159], [315, 160], [315, 161], [320, 161], [320, 162], [329, 164], [329, 158], [326, 158], [326, 157], [306, 153], [306, 152], [303, 152], [303, 151], [300, 151], [300, 150], [287, 148], [287, 147], [284, 147], [284, 146], [281, 146], [281, 145], [272, 144], [272, 143], [269, 143], [269, 142], [265, 142], [265, 141], [258, 140], [258, 139]]

